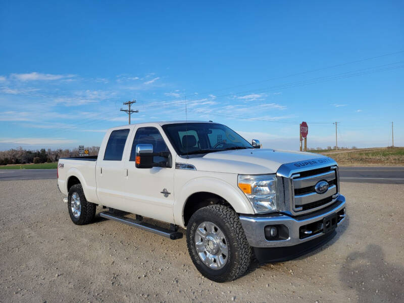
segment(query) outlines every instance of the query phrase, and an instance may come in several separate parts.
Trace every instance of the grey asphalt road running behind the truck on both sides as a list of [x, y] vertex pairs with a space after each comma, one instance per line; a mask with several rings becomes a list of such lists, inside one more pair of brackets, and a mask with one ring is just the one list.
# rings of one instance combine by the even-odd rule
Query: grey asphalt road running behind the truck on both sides
[[[340, 167], [343, 182], [404, 184], [404, 167]], [[56, 179], [56, 169], [0, 170], [2, 180]]]

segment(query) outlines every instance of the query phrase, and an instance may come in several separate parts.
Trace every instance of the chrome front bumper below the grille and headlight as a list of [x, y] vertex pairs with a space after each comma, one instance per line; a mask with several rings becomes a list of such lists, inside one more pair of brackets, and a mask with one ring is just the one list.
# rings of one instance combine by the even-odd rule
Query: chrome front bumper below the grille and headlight
[[[345, 208], [345, 197], [339, 195], [336, 203], [328, 208], [313, 214], [301, 217], [289, 217], [281, 214], [268, 215], [266, 217], [240, 215], [240, 221], [244, 228], [248, 243], [252, 247], [282, 247], [292, 246], [313, 240], [324, 235], [323, 232], [300, 239], [300, 227], [324, 219], [325, 217], [338, 213]], [[345, 218], [342, 218], [337, 225], [339, 226]], [[267, 240], [265, 237], [265, 227], [267, 225], [285, 225], [289, 231], [287, 239]]]

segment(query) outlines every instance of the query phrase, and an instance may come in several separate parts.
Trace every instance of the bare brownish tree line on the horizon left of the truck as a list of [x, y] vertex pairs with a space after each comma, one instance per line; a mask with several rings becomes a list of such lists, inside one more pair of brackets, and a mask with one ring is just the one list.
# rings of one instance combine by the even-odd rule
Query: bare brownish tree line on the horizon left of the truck
[[[97, 156], [99, 146], [85, 147], [90, 156]], [[57, 162], [59, 158], [79, 157], [79, 149], [24, 149], [12, 148], [0, 151], [0, 165]]]

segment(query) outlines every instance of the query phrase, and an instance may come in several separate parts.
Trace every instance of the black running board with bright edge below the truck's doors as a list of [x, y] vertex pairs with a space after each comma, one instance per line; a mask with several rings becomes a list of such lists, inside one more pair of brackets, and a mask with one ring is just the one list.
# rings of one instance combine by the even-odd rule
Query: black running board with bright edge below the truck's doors
[[140, 228], [140, 229], [145, 230], [145, 231], [153, 232], [153, 233], [161, 235], [163, 237], [170, 238], [171, 240], [176, 240], [176, 239], [181, 239], [182, 238], [182, 232], [173, 231], [173, 230], [166, 229], [166, 228], [163, 228], [163, 227], [160, 227], [160, 226], [145, 223], [145, 222], [142, 222], [142, 221], [139, 221], [139, 220], [135, 220], [135, 219], [115, 215], [115, 214], [112, 214], [110, 212], [99, 213], [99, 216], [103, 217], [103, 218], [106, 218], [106, 219], [109, 219], [109, 220], [118, 221], [118, 222], [130, 225], [130, 226], [133, 226], [133, 227], [137, 227], [137, 228]]

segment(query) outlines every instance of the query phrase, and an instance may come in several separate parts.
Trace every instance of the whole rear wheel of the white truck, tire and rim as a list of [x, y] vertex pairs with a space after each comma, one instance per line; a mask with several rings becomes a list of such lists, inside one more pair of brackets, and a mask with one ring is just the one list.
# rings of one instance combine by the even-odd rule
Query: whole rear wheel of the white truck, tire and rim
[[67, 207], [74, 224], [84, 225], [94, 220], [96, 205], [87, 201], [81, 184], [75, 184], [69, 189]]

